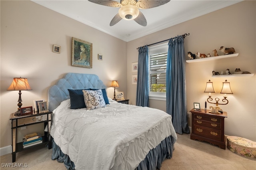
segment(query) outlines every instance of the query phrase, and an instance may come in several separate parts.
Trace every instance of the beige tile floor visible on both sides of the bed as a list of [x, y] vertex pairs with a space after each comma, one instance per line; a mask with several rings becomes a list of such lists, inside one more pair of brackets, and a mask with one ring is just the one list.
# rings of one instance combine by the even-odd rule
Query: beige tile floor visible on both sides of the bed
[[[171, 159], [164, 160], [161, 170], [256, 170], [256, 159], [245, 158], [208, 142], [190, 140], [190, 134], [177, 134], [175, 150]], [[12, 163], [12, 154], [0, 157], [1, 170], [66, 170], [63, 163], [51, 160], [52, 150], [38, 146], [16, 154], [16, 162], [27, 167], [2, 167]], [[14, 165], [14, 164], [13, 164]]]

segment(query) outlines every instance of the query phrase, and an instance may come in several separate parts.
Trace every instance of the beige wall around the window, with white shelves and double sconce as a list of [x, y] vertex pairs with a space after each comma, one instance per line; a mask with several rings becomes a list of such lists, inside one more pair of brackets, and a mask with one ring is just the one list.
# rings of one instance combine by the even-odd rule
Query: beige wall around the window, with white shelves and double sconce
[[[170, 19], [171, 20], [171, 19]], [[165, 30], [144, 36], [128, 42], [127, 45], [127, 91], [128, 99], [136, 103], [136, 85], [132, 85], [131, 63], [138, 61], [137, 47], [166, 40], [190, 33], [185, 38], [185, 53], [210, 53], [220, 46], [234, 47], [239, 53], [238, 57], [186, 63], [186, 90], [187, 110], [193, 108], [193, 103], [198, 102], [204, 108], [204, 101], [208, 94], [204, 93], [206, 82], [214, 82], [215, 91], [212, 97], [223, 99], [220, 94], [222, 82], [227, 79], [233, 91], [228, 95], [230, 103], [220, 105], [228, 112], [225, 119], [225, 134], [242, 136], [256, 141], [256, 75], [253, 77], [218, 77], [213, 78], [212, 71], [224, 71], [229, 68], [234, 72], [236, 68], [242, 71], [256, 73], [256, 2], [244, 1], [206, 14], [204, 16], [183, 22]], [[222, 53], [218, 50], [218, 54]], [[186, 56], [186, 59], [188, 57]], [[208, 103], [208, 108], [210, 104]], [[166, 101], [150, 100], [150, 107], [166, 111]], [[191, 126], [191, 118], [189, 119]]]

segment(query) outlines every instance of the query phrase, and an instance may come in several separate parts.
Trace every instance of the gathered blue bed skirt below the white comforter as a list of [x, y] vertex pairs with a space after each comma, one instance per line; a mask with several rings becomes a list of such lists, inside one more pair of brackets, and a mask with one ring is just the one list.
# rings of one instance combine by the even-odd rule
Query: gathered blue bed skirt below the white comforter
[[[176, 139], [172, 136], [168, 136], [156, 148], [150, 150], [146, 155], [146, 158], [140, 162], [135, 170], [160, 170], [162, 162], [165, 158], [172, 158], [172, 152], [174, 151], [174, 143]], [[64, 154], [60, 147], [54, 142], [52, 138], [52, 160], [58, 162], [64, 162], [64, 165], [68, 170], [75, 170], [75, 164], [72, 162], [68, 155]]]

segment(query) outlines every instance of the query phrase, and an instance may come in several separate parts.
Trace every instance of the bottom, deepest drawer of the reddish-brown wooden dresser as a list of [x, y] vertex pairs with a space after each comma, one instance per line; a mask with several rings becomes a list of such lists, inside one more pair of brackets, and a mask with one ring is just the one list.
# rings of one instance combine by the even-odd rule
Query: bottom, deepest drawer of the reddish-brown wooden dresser
[[204, 136], [213, 140], [221, 140], [221, 130], [194, 125], [194, 134]]

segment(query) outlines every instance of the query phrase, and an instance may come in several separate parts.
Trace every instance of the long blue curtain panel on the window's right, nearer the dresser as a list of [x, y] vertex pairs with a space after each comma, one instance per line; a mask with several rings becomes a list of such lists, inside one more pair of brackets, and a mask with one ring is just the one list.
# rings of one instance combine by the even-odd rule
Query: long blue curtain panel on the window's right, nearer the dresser
[[171, 38], [168, 43], [166, 68], [166, 112], [178, 134], [190, 133], [186, 110], [184, 37]]

